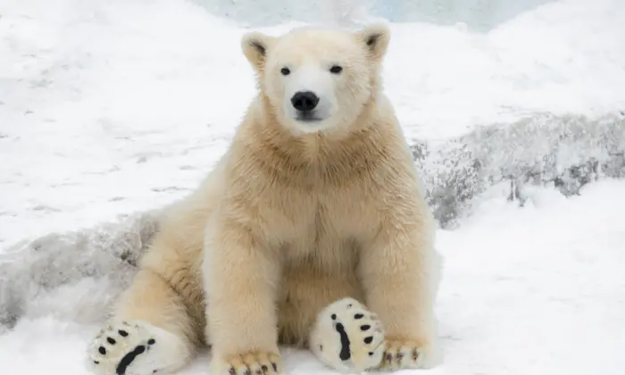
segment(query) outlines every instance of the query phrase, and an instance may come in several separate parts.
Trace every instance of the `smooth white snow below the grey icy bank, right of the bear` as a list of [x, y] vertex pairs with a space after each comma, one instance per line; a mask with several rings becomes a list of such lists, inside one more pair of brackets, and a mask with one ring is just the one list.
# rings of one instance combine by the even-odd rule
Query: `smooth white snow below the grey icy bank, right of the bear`
[[625, 365], [625, 182], [519, 209], [491, 192], [442, 232], [443, 373], [619, 374]]

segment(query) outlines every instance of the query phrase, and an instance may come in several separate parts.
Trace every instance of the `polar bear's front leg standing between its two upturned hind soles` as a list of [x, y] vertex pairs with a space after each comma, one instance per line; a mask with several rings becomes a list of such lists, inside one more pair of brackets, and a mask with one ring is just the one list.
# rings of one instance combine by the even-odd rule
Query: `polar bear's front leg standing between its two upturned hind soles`
[[238, 222], [208, 233], [204, 251], [207, 336], [212, 375], [281, 373], [277, 253]]

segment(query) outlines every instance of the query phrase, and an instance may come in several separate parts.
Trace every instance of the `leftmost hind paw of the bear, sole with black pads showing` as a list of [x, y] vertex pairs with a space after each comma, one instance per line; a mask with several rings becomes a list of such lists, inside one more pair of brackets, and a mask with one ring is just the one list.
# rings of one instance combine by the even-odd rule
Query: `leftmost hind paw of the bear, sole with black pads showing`
[[97, 375], [152, 375], [184, 364], [184, 343], [142, 321], [122, 321], [102, 329], [87, 350]]

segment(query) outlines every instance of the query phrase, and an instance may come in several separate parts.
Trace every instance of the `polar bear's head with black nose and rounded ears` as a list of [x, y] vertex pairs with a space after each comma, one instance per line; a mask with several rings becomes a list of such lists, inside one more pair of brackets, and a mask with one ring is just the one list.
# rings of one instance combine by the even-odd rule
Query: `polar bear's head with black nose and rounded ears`
[[248, 33], [242, 47], [280, 124], [311, 133], [354, 123], [379, 89], [389, 37], [381, 24], [356, 32], [301, 28], [280, 37]]

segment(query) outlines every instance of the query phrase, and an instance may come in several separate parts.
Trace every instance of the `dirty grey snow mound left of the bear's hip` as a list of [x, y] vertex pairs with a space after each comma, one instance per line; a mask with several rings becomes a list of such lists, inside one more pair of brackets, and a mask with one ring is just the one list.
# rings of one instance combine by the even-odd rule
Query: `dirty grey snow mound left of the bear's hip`
[[0, 326], [46, 316], [82, 324], [104, 321], [158, 228], [157, 216], [146, 212], [49, 234], [0, 254]]

